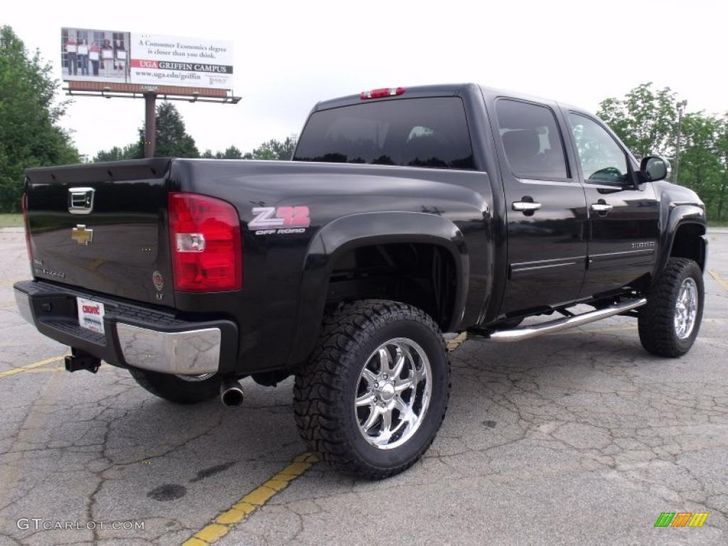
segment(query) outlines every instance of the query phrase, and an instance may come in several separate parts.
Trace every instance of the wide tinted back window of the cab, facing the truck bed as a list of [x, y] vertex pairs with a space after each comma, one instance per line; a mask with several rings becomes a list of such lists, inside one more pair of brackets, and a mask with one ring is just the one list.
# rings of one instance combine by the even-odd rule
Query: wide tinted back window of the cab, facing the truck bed
[[294, 161], [475, 169], [462, 100], [381, 100], [314, 112]]

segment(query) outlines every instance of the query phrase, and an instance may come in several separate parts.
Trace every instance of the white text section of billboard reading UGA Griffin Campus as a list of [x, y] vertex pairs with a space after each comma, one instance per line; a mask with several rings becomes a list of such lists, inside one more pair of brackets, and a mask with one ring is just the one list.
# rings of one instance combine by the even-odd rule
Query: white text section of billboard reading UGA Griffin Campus
[[232, 89], [229, 41], [131, 34], [131, 82]]

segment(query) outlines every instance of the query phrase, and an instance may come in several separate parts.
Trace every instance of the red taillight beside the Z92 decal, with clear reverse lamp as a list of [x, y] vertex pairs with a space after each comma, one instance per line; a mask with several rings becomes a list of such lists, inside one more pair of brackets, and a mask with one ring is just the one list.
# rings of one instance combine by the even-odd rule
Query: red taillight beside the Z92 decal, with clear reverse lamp
[[175, 290], [242, 288], [240, 219], [230, 203], [206, 195], [170, 193], [170, 245]]

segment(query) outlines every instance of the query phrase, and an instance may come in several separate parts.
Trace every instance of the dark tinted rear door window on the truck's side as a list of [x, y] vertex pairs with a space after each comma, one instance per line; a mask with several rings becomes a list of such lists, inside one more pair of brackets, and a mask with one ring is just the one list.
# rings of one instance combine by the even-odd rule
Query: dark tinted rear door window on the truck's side
[[498, 127], [511, 170], [521, 178], [568, 178], [553, 111], [520, 100], [496, 101]]

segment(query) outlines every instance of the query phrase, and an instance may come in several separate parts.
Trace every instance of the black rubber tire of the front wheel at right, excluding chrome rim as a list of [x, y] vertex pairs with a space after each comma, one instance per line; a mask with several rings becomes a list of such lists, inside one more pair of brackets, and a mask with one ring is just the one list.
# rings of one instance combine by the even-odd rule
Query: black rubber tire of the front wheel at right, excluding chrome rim
[[[680, 339], [675, 331], [675, 304], [682, 282], [692, 277], [697, 285], [697, 314], [692, 332]], [[660, 357], [681, 357], [690, 350], [703, 317], [705, 293], [703, 272], [688, 258], [670, 258], [657, 282], [647, 293], [647, 304], [639, 309], [639, 339], [648, 352]]]

